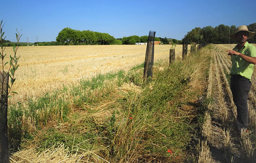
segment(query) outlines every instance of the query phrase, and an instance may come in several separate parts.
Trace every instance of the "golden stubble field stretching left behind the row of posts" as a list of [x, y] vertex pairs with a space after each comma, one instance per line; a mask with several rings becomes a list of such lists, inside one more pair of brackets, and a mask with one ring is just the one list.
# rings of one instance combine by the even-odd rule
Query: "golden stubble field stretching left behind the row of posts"
[[[29, 46], [19, 47], [19, 69], [10, 103], [35, 98], [99, 73], [128, 70], [145, 60], [147, 45]], [[154, 59], [168, 59], [171, 45], [155, 45]], [[188, 47], [190, 50], [190, 46]], [[7, 55], [12, 47], [6, 47]], [[182, 45], [175, 48], [181, 57]]]

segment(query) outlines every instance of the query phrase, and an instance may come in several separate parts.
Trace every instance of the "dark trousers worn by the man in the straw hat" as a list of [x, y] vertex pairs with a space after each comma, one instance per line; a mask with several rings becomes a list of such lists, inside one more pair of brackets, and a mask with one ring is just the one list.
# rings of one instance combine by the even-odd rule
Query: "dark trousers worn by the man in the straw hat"
[[230, 80], [230, 89], [233, 94], [233, 101], [237, 106], [237, 126], [236, 129], [241, 131], [247, 128], [248, 123], [248, 106], [247, 99], [251, 88], [251, 81], [241, 75], [232, 75]]

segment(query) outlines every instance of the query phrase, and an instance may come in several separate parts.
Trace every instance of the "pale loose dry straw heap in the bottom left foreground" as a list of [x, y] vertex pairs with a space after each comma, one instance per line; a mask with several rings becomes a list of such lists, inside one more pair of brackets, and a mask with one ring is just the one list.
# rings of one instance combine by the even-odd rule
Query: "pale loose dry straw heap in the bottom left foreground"
[[[10, 163], [42, 163], [42, 162], [108, 162], [98, 155], [99, 150], [81, 149], [76, 146], [72, 150], [65, 147], [64, 144], [53, 145], [43, 152], [36, 151], [36, 147], [23, 149], [13, 153], [10, 157]], [[90, 161], [89, 161], [90, 160]]]

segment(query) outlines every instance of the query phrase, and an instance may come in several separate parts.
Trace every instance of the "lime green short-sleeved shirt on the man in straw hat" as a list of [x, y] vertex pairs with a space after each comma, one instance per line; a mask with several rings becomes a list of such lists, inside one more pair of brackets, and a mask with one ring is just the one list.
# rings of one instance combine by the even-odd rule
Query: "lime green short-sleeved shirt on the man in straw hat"
[[[256, 47], [249, 44], [248, 42], [238, 51], [238, 45], [234, 47], [235, 51], [250, 56], [256, 57]], [[253, 66], [254, 64], [248, 63], [243, 58], [239, 57], [238, 55], [231, 56], [232, 68], [230, 70], [231, 75], [241, 75], [252, 81], [252, 73], [253, 73]]]

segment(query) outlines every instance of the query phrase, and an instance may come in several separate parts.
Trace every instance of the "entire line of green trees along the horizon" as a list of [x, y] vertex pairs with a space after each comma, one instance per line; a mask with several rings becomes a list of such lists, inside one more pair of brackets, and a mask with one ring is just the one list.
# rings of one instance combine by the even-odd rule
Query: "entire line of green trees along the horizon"
[[[256, 23], [250, 24], [249, 31], [256, 31]], [[236, 26], [225, 26], [223, 24], [213, 28], [206, 26], [203, 28], [196, 27], [189, 31], [182, 40], [174, 38], [155, 37], [155, 41], [161, 41], [162, 44], [169, 44], [170, 42], [176, 44], [183, 44], [184, 40], [191, 44], [196, 42], [208, 42], [213, 44], [233, 44], [235, 40], [229, 39], [229, 34], [236, 31]], [[124, 36], [123, 38], [114, 38], [108, 33], [94, 32], [90, 30], [73, 30], [71, 28], [64, 28], [56, 37], [56, 41], [52, 42], [34, 42], [28, 43], [28, 46], [58, 46], [58, 45], [134, 45], [136, 42], [147, 42], [148, 36]], [[16, 45], [15, 42], [3, 40], [4, 46]], [[256, 43], [256, 36], [248, 40], [249, 43]], [[18, 46], [27, 46], [27, 42], [19, 42]]]

